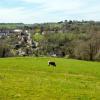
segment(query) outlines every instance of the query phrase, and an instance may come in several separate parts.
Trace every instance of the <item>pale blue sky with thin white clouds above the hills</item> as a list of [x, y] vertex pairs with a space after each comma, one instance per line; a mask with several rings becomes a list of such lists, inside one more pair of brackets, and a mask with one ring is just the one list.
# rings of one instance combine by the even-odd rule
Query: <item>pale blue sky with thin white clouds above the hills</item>
[[0, 23], [100, 21], [100, 0], [1, 0]]

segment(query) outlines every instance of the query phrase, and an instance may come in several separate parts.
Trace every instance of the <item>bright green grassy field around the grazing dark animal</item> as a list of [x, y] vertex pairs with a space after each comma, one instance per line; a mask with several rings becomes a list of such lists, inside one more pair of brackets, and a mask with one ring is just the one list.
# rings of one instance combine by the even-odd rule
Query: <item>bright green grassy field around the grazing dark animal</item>
[[[49, 67], [48, 60], [55, 61], [57, 67]], [[100, 63], [1, 58], [0, 100], [100, 100]]]

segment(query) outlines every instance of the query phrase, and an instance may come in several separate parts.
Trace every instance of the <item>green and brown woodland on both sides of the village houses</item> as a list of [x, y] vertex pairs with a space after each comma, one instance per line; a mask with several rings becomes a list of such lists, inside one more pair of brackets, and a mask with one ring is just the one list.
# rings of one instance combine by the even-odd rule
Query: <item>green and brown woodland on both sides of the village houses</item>
[[[27, 25], [23, 29], [27, 29], [33, 41], [38, 43], [32, 55], [56, 54], [80, 60], [100, 60], [100, 22], [65, 20]], [[17, 41], [14, 35], [9, 39], [3, 38], [2, 41], [0, 39], [0, 57], [13, 56], [13, 47]]]

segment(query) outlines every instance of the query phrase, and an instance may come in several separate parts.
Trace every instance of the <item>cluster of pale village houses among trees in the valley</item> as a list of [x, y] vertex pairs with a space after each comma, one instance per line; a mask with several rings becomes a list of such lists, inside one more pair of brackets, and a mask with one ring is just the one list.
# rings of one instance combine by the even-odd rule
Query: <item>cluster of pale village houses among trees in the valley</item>
[[[25, 56], [27, 54], [31, 54], [32, 49], [38, 49], [36, 48], [38, 47], [38, 42], [32, 40], [31, 34], [28, 30], [22, 30], [22, 29], [0, 30], [0, 39], [2, 39], [3, 37], [10, 38], [13, 35], [16, 36], [17, 40], [16, 44], [14, 45], [14, 48], [16, 48], [17, 55]], [[23, 47], [21, 47], [22, 44]], [[26, 48], [27, 52], [23, 48]]]

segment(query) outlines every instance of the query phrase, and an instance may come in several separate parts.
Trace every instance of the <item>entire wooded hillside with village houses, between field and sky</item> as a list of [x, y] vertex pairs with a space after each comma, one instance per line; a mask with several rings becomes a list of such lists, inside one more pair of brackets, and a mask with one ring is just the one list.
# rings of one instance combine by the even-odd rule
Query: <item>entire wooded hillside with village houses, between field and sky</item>
[[[100, 61], [99, 21], [2, 25], [0, 57], [56, 56]], [[16, 28], [12, 29], [13, 25]]]

